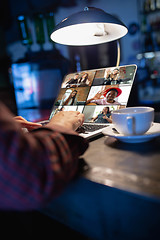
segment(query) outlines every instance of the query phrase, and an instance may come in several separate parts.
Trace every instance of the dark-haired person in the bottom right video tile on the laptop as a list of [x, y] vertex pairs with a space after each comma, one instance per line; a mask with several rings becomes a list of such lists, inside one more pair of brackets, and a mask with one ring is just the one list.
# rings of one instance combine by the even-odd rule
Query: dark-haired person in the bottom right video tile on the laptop
[[96, 117], [92, 118], [92, 122], [95, 123], [112, 123], [111, 111], [109, 107], [104, 107]]

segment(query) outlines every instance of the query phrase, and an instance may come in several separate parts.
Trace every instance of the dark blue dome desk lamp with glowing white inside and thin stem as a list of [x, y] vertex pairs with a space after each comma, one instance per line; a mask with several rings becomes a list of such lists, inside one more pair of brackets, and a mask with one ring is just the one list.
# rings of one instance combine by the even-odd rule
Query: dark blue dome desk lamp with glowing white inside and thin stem
[[[62, 20], [51, 34], [54, 42], [70, 46], [95, 45], [126, 35], [126, 26], [116, 17], [101, 9], [85, 7], [83, 11]], [[120, 45], [117, 41], [117, 66], [120, 62]]]

